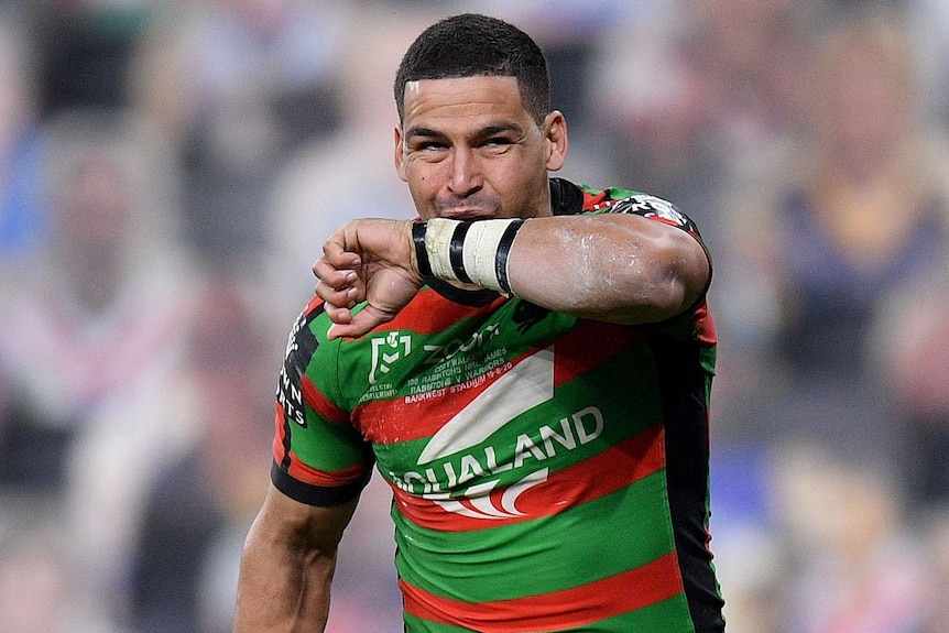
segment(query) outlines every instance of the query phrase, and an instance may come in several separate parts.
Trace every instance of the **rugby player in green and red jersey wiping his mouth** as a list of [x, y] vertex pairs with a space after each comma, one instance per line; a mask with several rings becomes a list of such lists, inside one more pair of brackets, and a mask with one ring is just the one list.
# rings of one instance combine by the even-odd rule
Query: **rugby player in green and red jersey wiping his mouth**
[[668, 203], [547, 173], [544, 56], [481, 15], [395, 81], [421, 220], [347, 223], [287, 347], [236, 631], [323, 631], [373, 463], [407, 632], [720, 632], [708, 544], [710, 263]]

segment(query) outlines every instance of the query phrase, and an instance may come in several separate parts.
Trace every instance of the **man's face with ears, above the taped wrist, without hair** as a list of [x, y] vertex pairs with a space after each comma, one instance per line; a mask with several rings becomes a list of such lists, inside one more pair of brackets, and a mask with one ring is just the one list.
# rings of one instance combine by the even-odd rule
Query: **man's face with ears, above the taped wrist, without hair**
[[405, 86], [395, 166], [423, 219], [550, 215], [547, 171], [567, 151], [563, 114], [538, 127], [514, 77], [423, 79]]

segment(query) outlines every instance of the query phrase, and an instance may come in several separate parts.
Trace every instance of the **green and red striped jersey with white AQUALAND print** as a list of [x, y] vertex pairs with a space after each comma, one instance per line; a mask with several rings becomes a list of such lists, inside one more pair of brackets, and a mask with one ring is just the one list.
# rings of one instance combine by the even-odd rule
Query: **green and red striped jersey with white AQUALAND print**
[[[639, 214], [700, 240], [652, 196], [552, 193], [557, 214]], [[705, 301], [620, 326], [435, 282], [366, 337], [328, 341], [330, 325], [314, 301], [291, 334], [273, 481], [328, 505], [375, 465], [407, 632], [723, 630]]]

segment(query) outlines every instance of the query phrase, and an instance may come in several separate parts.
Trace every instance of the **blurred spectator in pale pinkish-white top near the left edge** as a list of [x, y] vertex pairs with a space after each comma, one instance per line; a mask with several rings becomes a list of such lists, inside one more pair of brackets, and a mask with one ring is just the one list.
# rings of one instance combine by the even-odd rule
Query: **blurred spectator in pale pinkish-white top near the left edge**
[[90, 417], [174, 367], [187, 270], [172, 250], [174, 175], [148, 125], [64, 114], [43, 156], [47, 240], [0, 288], [0, 483], [56, 492]]

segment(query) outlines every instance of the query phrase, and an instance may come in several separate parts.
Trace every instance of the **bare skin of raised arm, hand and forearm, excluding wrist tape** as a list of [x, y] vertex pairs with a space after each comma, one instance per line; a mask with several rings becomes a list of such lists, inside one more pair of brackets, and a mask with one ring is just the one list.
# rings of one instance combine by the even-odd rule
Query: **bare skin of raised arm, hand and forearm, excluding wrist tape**
[[[361, 336], [390, 320], [423, 283], [411, 222], [395, 220], [347, 223], [326, 242], [314, 273], [337, 324], [332, 336]], [[664, 222], [628, 214], [556, 216], [524, 222], [508, 275], [513, 292], [538, 306], [639, 324], [695, 304], [710, 265], [695, 238]], [[349, 308], [362, 301], [367, 308], [353, 316]]]

